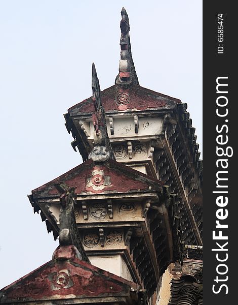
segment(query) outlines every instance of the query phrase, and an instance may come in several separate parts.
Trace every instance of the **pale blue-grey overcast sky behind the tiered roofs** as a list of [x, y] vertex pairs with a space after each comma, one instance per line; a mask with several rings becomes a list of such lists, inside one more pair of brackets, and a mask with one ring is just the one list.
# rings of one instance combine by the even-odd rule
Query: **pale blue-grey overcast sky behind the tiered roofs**
[[188, 104], [202, 151], [202, 1], [0, 0], [0, 288], [58, 246], [27, 194], [82, 163], [63, 113], [114, 84], [121, 9], [140, 85]]

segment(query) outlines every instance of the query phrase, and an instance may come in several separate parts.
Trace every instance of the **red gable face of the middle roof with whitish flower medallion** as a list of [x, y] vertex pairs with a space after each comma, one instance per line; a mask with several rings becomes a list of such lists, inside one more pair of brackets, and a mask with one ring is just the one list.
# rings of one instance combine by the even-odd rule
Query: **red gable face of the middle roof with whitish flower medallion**
[[58, 197], [55, 184], [64, 182], [74, 187], [77, 195], [101, 193], [160, 192], [163, 182], [109, 160], [95, 164], [88, 160], [58, 178], [32, 191], [34, 199]]

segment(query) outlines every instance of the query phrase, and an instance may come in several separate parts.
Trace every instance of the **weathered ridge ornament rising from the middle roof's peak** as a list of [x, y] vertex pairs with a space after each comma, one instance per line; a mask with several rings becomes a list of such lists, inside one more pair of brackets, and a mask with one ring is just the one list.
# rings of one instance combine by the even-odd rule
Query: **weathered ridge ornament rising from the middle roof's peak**
[[92, 89], [94, 113], [92, 116], [94, 126], [94, 148], [89, 154], [89, 159], [94, 162], [105, 162], [108, 159], [115, 160], [111, 143], [107, 133], [106, 116], [100, 97], [100, 85], [95, 65], [92, 65]]

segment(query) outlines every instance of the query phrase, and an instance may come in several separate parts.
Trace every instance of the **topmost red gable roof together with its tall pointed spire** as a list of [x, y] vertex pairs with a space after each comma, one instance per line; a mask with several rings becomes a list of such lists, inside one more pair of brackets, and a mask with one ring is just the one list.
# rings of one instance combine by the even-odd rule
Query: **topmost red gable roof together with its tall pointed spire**
[[[181, 103], [179, 99], [171, 98], [139, 85], [132, 59], [129, 17], [125, 8], [122, 8], [121, 15], [121, 59], [119, 74], [116, 77], [115, 85], [101, 92], [102, 106], [105, 112], [174, 108], [177, 103]], [[68, 113], [72, 116], [81, 112], [87, 113], [93, 111], [94, 105], [92, 97], [68, 109]]]

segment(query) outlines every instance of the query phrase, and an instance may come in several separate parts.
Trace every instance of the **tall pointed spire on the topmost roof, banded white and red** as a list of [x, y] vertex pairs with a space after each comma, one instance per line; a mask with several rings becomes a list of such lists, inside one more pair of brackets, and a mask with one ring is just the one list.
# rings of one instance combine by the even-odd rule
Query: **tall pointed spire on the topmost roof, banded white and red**
[[116, 76], [115, 83], [120, 85], [135, 84], [139, 85], [139, 81], [136, 75], [135, 66], [132, 59], [131, 53], [131, 42], [130, 42], [130, 24], [127, 11], [122, 8], [122, 20], [121, 20], [121, 60], [119, 64], [119, 74]]

